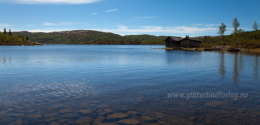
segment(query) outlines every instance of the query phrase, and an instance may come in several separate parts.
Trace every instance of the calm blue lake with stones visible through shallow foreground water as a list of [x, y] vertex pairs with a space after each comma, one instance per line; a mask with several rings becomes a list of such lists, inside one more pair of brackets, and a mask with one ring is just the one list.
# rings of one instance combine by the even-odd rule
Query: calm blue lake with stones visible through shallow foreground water
[[0, 124], [259, 123], [259, 52], [159, 47], [0, 46]]

